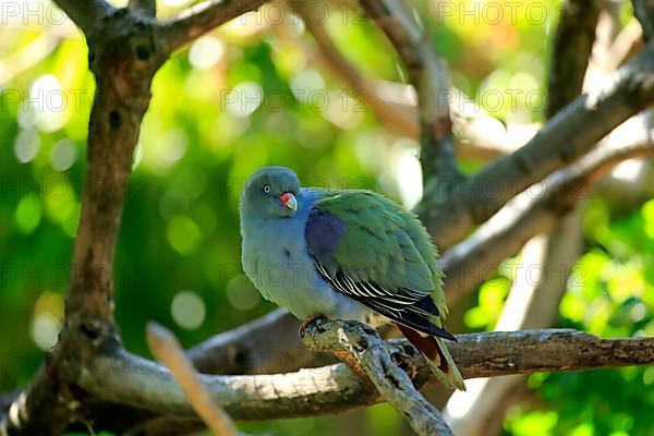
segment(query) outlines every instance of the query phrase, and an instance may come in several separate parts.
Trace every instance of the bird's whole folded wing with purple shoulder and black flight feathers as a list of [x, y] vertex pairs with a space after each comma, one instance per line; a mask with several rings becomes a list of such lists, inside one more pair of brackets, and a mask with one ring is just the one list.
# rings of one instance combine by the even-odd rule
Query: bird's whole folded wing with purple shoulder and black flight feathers
[[433, 319], [447, 313], [443, 274], [415, 215], [370, 191], [327, 193], [313, 206], [305, 238], [316, 268], [337, 291], [398, 323], [444, 336]]

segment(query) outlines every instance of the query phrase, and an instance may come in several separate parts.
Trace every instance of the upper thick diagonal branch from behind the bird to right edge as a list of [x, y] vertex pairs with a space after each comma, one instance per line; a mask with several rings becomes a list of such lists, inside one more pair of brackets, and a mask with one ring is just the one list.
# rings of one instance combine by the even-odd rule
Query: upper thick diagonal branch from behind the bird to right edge
[[606, 85], [559, 111], [526, 145], [500, 157], [450, 194], [425, 223], [440, 247], [461, 240], [511, 197], [574, 161], [616, 126], [654, 101], [654, 43], [610, 76]]

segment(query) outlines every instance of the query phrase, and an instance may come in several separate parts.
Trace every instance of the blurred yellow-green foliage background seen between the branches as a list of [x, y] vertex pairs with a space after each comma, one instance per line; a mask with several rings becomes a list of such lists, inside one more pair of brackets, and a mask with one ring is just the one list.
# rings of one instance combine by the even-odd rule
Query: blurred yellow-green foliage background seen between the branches
[[[159, 1], [159, 15], [189, 3]], [[485, 110], [485, 133], [511, 144], [531, 137], [545, 108], [525, 96], [546, 94], [560, 3], [463, 1], [450, 3], [453, 13], [437, 1], [415, 3], [452, 84]], [[366, 75], [405, 82], [374, 26], [355, 10], [323, 4], [329, 33], [354, 64]], [[0, 5], [0, 390], [11, 390], [28, 383], [57, 340], [68, 278], [75, 274], [70, 258], [94, 81], [83, 37], [56, 7]], [[629, 25], [628, 2], [616, 10], [620, 25]], [[264, 8], [211, 32], [175, 53], [154, 81], [114, 277], [117, 318], [136, 353], [149, 355], [144, 327], [150, 319], [190, 347], [274, 308], [240, 266], [239, 192], [261, 166], [291, 167], [306, 184], [377, 190], [408, 207], [420, 199], [417, 144], [380, 124], [315, 62], [314, 41], [286, 13], [281, 20], [279, 9]], [[507, 89], [522, 92], [514, 105], [489, 98], [488, 90]], [[461, 161], [465, 171], [483, 164]], [[571, 279], [582, 286], [568, 283], [556, 324], [602, 337], [654, 336], [654, 201], [626, 207], [597, 195], [582, 213], [584, 247], [574, 270], [583, 274]], [[458, 311], [455, 330], [495, 327], [511, 275], [500, 268], [489, 279]], [[652, 410], [654, 367], [534, 374], [501, 433], [652, 435]], [[409, 434], [384, 404], [339, 419], [242, 427], [279, 435]]]

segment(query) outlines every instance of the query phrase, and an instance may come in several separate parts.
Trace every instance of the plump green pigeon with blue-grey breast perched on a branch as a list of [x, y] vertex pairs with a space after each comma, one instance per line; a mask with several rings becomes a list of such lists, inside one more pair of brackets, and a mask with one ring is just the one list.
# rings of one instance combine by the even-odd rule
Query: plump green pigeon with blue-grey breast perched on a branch
[[449, 389], [465, 390], [445, 340], [438, 253], [415, 214], [367, 190], [301, 187], [264, 167], [239, 204], [244, 274], [261, 294], [305, 323], [396, 324]]

